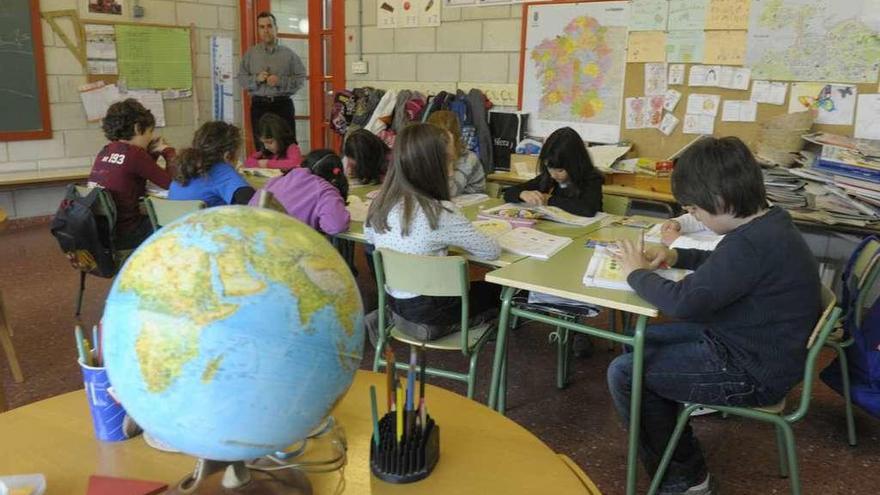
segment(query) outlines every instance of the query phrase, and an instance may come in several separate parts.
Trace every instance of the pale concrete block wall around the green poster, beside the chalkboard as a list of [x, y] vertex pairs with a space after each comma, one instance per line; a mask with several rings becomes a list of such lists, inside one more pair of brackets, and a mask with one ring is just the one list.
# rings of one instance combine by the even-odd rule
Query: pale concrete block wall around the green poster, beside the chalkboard
[[[92, 20], [143, 22], [177, 26], [194, 25], [196, 55], [193, 58], [195, 98], [165, 101], [166, 127], [157, 129], [175, 147], [189, 143], [197, 125], [211, 119], [210, 37], [233, 40], [236, 72], [239, 60], [238, 0], [140, 0], [145, 16], [131, 17], [131, 3], [125, 3], [123, 15], [90, 14], [88, 0], [41, 0], [43, 12], [77, 8], [83, 22]], [[65, 19], [60, 27], [73, 36], [73, 25]], [[34, 141], [0, 142], [0, 177], [4, 173], [37, 172], [91, 165], [98, 150], [106, 143], [99, 122], [86, 122], [78, 87], [86, 83], [85, 71], [61, 38], [42, 21], [46, 56], [47, 88], [52, 122], [52, 138]], [[237, 87], [236, 87], [237, 88]], [[240, 93], [235, 93], [235, 121], [241, 125]], [[196, 108], [198, 115], [195, 115]], [[49, 215], [55, 212], [63, 196], [63, 187], [34, 186], [0, 191], [0, 208], [10, 218]]]

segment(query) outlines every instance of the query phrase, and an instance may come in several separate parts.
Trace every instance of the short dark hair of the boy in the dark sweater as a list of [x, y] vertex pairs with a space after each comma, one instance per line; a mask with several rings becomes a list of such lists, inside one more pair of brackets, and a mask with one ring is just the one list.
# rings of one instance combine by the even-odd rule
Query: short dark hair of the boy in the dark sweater
[[705, 138], [685, 150], [672, 172], [672, 194], [683, 206], [745, 218], [767, 204], [761, 167], [739, 138]]

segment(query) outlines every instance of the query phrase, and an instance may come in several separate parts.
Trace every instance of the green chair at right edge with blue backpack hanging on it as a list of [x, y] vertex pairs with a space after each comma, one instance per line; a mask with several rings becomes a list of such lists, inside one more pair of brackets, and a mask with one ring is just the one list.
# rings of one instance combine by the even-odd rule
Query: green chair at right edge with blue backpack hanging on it
[[[858, 288], [873, 287], [880, 278], [880, 241], [869, 241], [868, 245], [859, 253], [850, 273], [850, 277], [854, 277], [855, 286]], [[844, 284], [850, 283], [850, 280], [844, 280]], [[840, 317], [840, 323], [847, 320], [849, 313], [853, 314], [854, 321], [861, 324], [864, 318], [865, 305], [868, 302], [870, 290], [863, 290], [859, 293], [858, 300], [855, 301], [853, 307], [843, 308], [843, 315]], [[855, 343], [855, 339], [849, 335], [845, 336], [841, 328], [840, 333], [836, 331], [831, 334], [825, 342], [826, 347], [834, 349], [837, 353], [837, 362], [840, 363], [840, 376], [843, 388], [843, 400], [846, 404], [846, 434], [847, 441], [850, 445], [855, 446], [858, 443], [856, 437], [856, 424], [853, 417], [852, 396], [850, 395], [849, 384], [849, 364], [846, 359], [846, 348]]]

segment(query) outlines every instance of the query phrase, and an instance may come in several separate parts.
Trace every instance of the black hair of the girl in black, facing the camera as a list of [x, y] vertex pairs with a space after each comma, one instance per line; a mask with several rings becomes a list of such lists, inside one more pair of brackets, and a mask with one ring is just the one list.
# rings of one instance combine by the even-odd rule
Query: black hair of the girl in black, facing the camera
[[577, 196], [590, 176], [596, 173], [584, 140], [571, 127], [561, 127], [550, 134], [541, 147], [538, 163], [541, 164], [540, 190], [544, 193], [550, 192], [556, 185], [548, 168], [561, 168], [568, 172], [570, 185], [565, 192], [573, 196]]

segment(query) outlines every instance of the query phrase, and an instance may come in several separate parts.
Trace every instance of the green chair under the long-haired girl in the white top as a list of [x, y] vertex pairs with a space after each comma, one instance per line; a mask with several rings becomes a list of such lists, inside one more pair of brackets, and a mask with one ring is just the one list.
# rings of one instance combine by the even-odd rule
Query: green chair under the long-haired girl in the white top
[[[379, 339], [376, 342], [376, 356], [373, 359], [373, 371], [388, 363], [382, 358], [382, 350], [389, 338], [414, 346], [428, 349], [457, 350], [469, 359], [467, 373], [428, 367], [425, 373], [465, 382], [468, 399], [474, 398], [476, 384], [477, 359], [480, 350], [494, 334], [497, 326], [491, 321], [473, 328], [468, 318], [468, 264], [461, 256], [420, 256], [400, 253], [390, 249], [377, 249], [373, 252], [373, 265], [376, 268], [376, 286], [379, 294]], [[427, 342], [419, 341], [386, 322], [387, 294], [385, 289], [411, 292], [424, 296], [461, 297], [461, 330], [451, 335]], [[405, 363], [396, 363], [396, 368], [405, 370]]]

